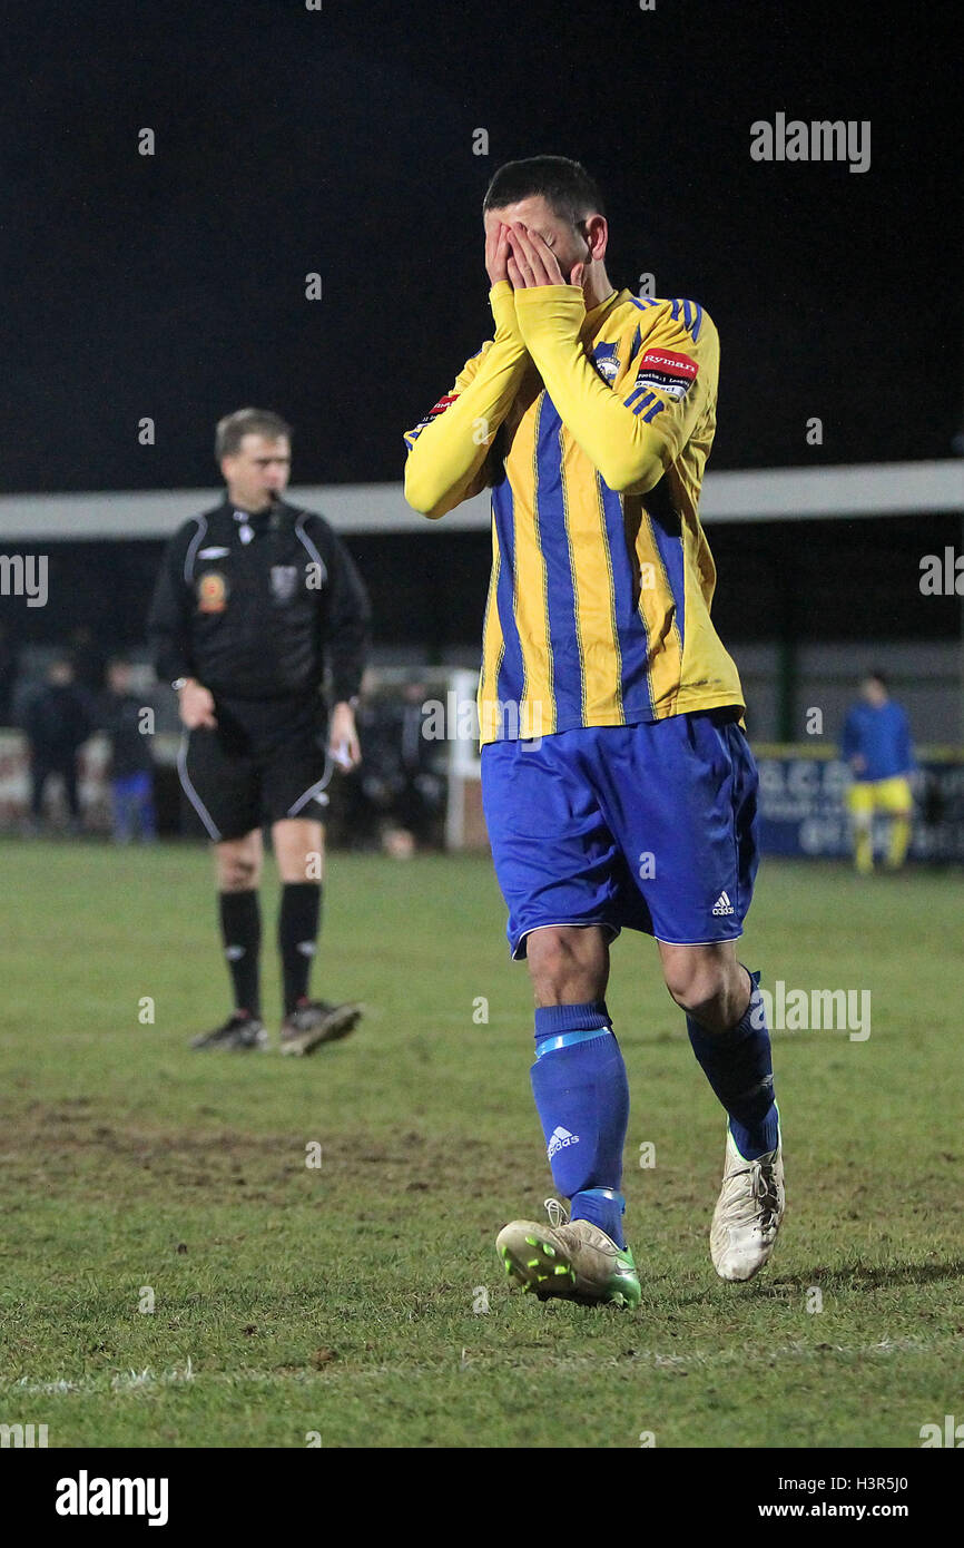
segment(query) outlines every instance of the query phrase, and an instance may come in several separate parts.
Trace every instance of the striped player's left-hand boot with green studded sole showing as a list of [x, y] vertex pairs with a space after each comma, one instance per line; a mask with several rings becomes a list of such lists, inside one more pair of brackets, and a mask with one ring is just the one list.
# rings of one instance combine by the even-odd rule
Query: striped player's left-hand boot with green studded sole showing
[[557, 1297], [583, 1307], [638, 1307], [642, 1291], [628, 1248], [588, 1220], [569, 1221], [555, 1198], [546, 1198], [548, 1226], [514, 1220], [495, 1238], [506, 1276], [538, 1300]]

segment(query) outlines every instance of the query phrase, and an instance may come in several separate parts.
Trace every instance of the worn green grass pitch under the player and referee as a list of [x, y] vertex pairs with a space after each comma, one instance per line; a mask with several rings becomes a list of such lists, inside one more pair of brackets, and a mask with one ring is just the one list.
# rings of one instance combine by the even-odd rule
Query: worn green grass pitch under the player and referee
[[[774, 1033], [789, 1207], [746, 1286], [709, 1260], [723, 1115], [651, 943], [616, 943], [625, 1313], [501, 1279], [494, 1235], [551, 1178], [487, 861], [331, 858], [313, 988], [368, 1014], [309, 1059], [187, 1050], [227, 1006], [203, 850], [0, 864], [0, 1423], [51, 1446], [914, 1447], [964, 1416], [959, 875], [763, 865], [743, 960], [771, 989], [870, 989], [873, 1022]], [[277, 1023], [275, 902], [269, 879]]]

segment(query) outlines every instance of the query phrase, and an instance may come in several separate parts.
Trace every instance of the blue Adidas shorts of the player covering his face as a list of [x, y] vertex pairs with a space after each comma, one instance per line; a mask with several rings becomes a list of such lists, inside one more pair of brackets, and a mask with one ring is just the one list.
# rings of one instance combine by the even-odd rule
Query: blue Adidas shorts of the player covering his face
[[583, 726], [481, 752], [509, 946], [549, 924], [732, 941], [758, 865], [757, 766], [738, 711]]

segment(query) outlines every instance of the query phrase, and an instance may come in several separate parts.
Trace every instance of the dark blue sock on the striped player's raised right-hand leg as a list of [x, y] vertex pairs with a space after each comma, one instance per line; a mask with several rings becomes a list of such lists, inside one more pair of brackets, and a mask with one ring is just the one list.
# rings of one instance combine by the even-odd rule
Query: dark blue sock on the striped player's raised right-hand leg
[[685, 1019], [693, 1053], [729, 1113], [733, 1144], [744, 1161], [775, 1150], [780, 1138], [771, 1034], [758, 972], [750, 974], [750, 1003], [727, 1033], [707, 1033], [692, 1015]]

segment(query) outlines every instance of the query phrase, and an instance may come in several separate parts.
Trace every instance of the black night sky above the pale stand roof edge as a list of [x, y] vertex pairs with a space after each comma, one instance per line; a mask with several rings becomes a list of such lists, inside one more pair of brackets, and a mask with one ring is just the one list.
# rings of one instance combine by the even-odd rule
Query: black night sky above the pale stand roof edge
[[[600, 180], [616, 283], [653, 271], [716, 319], [713, 467], [949, 455], [961, 91], [939, 9], [8, 12], [6, 491], [214, 483], [214, 421], [249, 402], [296, 424], [299, 483], [399, 478], [402, 429], [487, 333], [486, 181], [545, 150]], [[749, 125], [778, 110], [870, 119], [870, 172], [754, 163]]]

